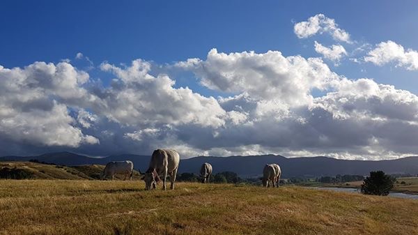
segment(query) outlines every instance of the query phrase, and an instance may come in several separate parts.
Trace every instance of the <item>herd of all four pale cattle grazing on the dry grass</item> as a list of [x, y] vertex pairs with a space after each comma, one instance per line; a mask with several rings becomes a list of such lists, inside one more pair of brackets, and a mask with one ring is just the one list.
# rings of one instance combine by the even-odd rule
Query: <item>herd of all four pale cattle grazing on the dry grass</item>
[[[180, 156], [177, 151], [172, 149], [157, 149], [151, 156], [150, 165], [142, 179], [145, 181], [146, 190], [156, 188], [158, 182], [162, 181], [162, 189], [166, 190], [167, 175], [170, 175], [170, 189], [174, 189], [174, 181], [176, 181], [176, 175], [178, 170], [178, 164], [180, 163]], [[104, 177], [110, 177], [114, 179], [115, 174], [125, 175], [126, 180], [128, 177], [131, 180], [134, 172], [134, 163], [131, 161], [119, 161], [109, 162], [104, 167], [101, 179]], [[209, 183], [210, 176], [212, 175], [212, 165], [208, 162], [203, 163], [200, 169], [201, 182]], [[160, 178], [162, 176], [162, 178]], [[263, 169], [263, 187], [279, 187], [279, 180], [281, 176], [281, 169], [279, 165], [267, 164]]]

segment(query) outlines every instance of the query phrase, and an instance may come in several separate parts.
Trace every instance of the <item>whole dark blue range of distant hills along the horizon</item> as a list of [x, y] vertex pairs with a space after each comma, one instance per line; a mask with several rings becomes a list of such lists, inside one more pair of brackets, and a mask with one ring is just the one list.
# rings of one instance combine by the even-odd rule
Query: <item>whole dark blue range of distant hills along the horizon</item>
[[[17, 160], [27, 161], [36, 159], [40, 162], [50, 162], [59, 165], [106, 165], [115, 160], [132, 160], [134, 169], [144, 172], [148, 168], [150, 156], [133, 154], [121, 154], [106, 158], [90, 158], [75, 153], [47, 153], [40, 156], [7, 156], [1, 157], [0, 161]], [[198, 173], [203, 162], [210, 162], [215, 173], [231, 171], [241, 177], [259, 176], [267, 163], [276, 162], [280, 165], [283, 177], [292, 176], [334, 176], [336, 174], [359, 174], [366, 175], [372, 170], [382, 170], [389, 174], [418, 174], [418, 157], [399, 158], [396, 160], [340, 160], [323, 156], [311, 158], [285, 158], [278, 155], [262, 156], [231, 156], [212, 157], [199, 156], [196, 158], [183, 159], [180, 161], [179, 173]]]

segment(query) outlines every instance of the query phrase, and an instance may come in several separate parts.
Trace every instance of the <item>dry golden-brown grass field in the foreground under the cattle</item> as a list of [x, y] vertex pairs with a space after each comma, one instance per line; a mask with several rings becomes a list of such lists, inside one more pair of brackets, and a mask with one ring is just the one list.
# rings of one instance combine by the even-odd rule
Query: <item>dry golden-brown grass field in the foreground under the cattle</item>
[[1, 180], [0, 234], [418, 234], [418, 201], [249, 185]]

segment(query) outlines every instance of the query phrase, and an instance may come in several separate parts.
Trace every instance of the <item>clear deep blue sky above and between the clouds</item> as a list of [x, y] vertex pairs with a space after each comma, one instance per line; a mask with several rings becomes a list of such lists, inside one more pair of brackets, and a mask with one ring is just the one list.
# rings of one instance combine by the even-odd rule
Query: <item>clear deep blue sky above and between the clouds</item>
[[[96, 65], [138, 58], [171, 63], [205, 58], [212, 48], [318, 56], [314, 39], [293, 33], [293, 22], [318, 13], [336, 19], [359, 42], [394, 40], [417, 50], [417, 10], [416, 1], [3, 1], [0, 64], [58, 62], [77, 52]], [[418, 92], [415, 72], [351, 64], [335, 70]], [[187, 85], [181, 77], [178, 82]]]

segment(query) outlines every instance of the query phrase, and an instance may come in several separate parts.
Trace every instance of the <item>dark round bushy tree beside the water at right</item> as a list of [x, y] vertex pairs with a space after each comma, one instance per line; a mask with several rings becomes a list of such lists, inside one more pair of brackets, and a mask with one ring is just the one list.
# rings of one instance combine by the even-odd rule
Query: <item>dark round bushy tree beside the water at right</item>
[[367, 176], [362, 184], [362, 193], [366, 195], [387, 196], [389, 195], [389, 191], [394, 188], [395, 180], [392, 176], [382, 171], [370, 172], [370, 176]]

